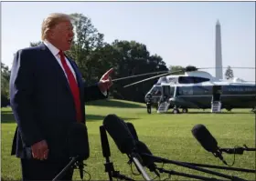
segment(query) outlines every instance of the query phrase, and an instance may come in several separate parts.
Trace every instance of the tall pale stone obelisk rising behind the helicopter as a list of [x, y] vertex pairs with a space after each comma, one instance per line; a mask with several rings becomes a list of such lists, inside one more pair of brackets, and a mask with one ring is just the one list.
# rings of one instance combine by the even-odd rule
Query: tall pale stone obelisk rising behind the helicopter
[[222, 53], [221, 53], [221, 35], [220, 35], [220, 24], [219, 20], [216, 24], [216, 42], [215, 42], [215, 76], [219, 79], [223, 79], [222, 73]]

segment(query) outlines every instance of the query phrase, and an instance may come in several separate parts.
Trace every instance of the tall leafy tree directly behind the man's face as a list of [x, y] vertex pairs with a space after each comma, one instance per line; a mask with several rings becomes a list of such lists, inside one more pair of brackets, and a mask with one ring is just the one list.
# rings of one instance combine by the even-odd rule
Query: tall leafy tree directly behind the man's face
[[81, 74], [88, 82], [99, 80], [99, 64], [101, 64], [101, 48], [105, 45], [104, 35], [92, 25], [91, 19], [82, 14], [71, 14], [74, 26], [74, 41], [67, 52], [80, 67]]

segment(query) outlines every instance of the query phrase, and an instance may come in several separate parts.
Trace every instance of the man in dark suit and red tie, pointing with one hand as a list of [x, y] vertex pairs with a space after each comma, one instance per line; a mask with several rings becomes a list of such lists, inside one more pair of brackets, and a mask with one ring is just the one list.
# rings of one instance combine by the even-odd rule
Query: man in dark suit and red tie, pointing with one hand
[[[107, 97], [112, 69], [96, 85], [84, 85], [78, 66], [64, 55], [73, 40], [69, 15], [43, 21], [43, 43], [16, 52], [10, 101], [16, 119], [12, 155], [21, 159], [23, 180], [52, 180], [69, 163], [71, 123], [85, 124], [84, 103]], [[71, 180], [73, 170], [62, 178]]]

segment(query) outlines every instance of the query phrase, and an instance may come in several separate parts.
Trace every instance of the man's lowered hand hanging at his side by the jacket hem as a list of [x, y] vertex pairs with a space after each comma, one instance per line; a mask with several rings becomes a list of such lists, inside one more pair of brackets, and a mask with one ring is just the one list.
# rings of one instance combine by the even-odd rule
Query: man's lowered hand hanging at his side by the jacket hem
[[32, 156], [36, 159], [47, 159], [48, 158], [48, 144], [46, 140], [42, 140], [40, 142], [37, 142], [33, 146], [31, 146], [32, 149]]

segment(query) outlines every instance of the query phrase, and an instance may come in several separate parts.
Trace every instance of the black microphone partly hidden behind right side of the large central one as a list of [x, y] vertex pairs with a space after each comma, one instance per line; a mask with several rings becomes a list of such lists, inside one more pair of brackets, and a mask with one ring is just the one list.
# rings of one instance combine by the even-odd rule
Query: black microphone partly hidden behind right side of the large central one
[[136, 140], [135, 146], [137, 149], [137, 152], [139, 156], [141, 156], [143, 160], [143, 166], [146, 166], [151, 172], [155, 172], [156, 176], [160, 176], [159, 173], [156, 170], [156, 165], [154, 160], [149, 156], [144, 156], [143, 154], [148, 154], [150, 156], [153, 156], [149, 148], [144, 144], [144, 142], [139, 140], [139, 137], [137, 135], [136, 129], [133, 126], [133, 123], [127, 122], [126, 125], [128, 126], [131, 134], [133, 135], [133, 138]]

